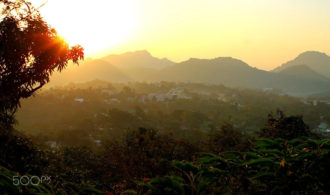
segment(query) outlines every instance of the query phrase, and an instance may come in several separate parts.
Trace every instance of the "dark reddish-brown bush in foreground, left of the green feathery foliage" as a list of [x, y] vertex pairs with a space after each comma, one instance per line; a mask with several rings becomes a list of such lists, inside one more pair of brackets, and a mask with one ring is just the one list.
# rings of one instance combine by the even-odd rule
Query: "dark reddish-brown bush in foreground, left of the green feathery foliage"
[[106, 189], [123, 192], [135, 180], [166, 173], [169, 160], [192, 160], [197, 152], [196, 146], [153, 129], [127, 131], [122, 142], [110, 141], [100, 152], [99, 181]]

